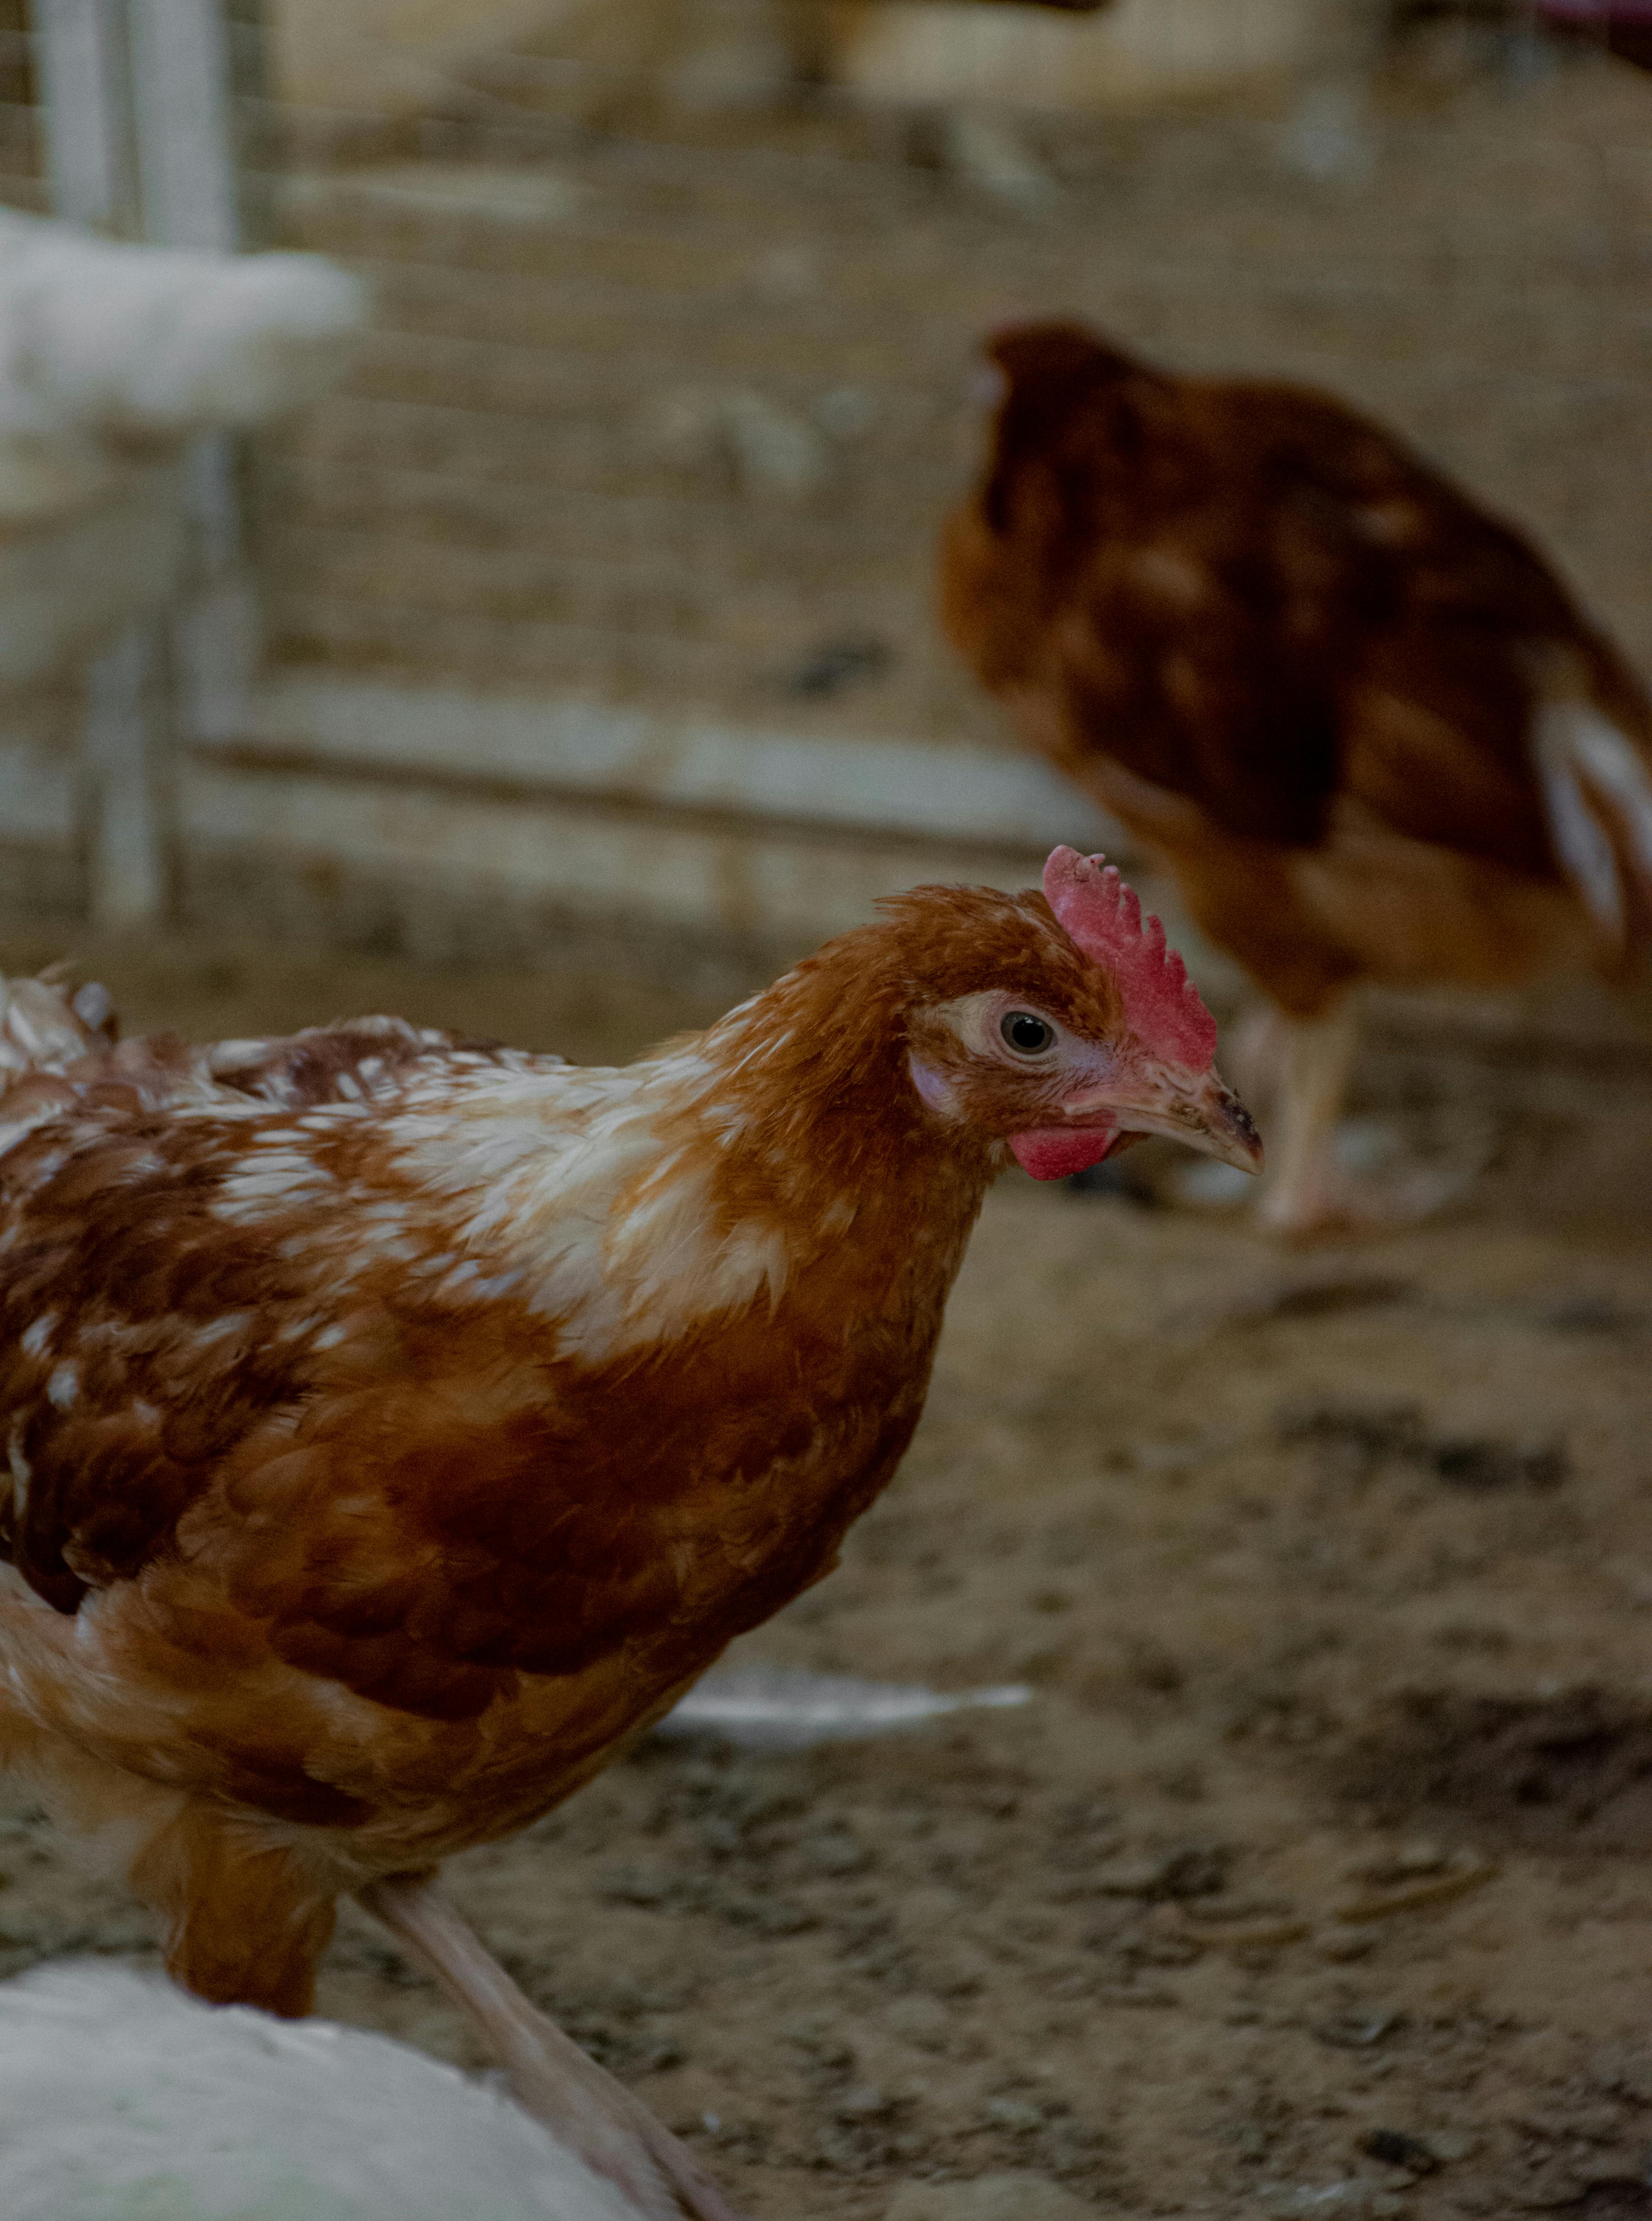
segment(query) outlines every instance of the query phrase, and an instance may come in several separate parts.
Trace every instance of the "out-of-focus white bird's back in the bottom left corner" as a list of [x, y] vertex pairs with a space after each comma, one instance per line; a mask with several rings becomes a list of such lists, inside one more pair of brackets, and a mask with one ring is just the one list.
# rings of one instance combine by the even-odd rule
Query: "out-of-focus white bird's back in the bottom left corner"
[[0, 1983], [7, 2221], [639, 2221], [508, 2099], [389, 2037], [124, 1966]]

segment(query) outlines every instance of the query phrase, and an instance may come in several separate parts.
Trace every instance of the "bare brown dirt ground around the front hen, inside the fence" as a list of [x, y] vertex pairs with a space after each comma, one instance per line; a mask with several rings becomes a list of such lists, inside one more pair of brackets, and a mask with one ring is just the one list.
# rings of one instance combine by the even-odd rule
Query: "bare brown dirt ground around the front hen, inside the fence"
[[[704, 1015], [89, 955], [140, 1026], [391, 1004], [602, 1057]], [[1652, 2214], [1645, 1170], [1583, 1113], [1543, 1135], [1437, 1224], [1299, 1253], [1006, 1182], [906, 1468], [748, 1650], [1032, 1701], [786, 1757], [655, 1741], [453, 1863], [753, 2214], [984, 2221], [961, 2185], [1001, 2172], [995, 2221]], [[1599, 1162], [1570, 1222], [1525, 1208], [1545, 1162]], [[149, 1952], [4, 1815], [0, 1970]], [[320, 2003], [480, 2063], [364, 1917]]]

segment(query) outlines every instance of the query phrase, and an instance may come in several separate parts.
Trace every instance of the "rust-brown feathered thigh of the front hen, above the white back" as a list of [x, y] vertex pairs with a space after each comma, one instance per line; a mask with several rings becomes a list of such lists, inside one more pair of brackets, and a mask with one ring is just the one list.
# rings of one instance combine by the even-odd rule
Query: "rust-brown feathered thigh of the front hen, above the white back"
[[333, 1892], [284, 1848], [187, 1803], [131, 1861], [133, 1892], [164, 1923], [167, 1972], [211, 2006], [302, 2019], [333, 1934]]

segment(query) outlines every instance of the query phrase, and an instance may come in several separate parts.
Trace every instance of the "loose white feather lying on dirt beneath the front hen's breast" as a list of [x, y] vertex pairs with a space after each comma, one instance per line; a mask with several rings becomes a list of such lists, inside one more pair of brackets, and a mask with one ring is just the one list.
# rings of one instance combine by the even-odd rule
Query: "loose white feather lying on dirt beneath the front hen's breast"
[[746, 1750], [804, 1750], [810, 1743], [848, 1743], [862, 1735], [917, 1728], [948, 1712], [1004, 1710], [1028, 1704], [1032, 1690], [1019, 1681], [944, 1695], [908, 1681], [862, 1681], [857, 1675], [786, 1666], [728, 1666], [695, 1684], [655, 1732], [722, 1735]]

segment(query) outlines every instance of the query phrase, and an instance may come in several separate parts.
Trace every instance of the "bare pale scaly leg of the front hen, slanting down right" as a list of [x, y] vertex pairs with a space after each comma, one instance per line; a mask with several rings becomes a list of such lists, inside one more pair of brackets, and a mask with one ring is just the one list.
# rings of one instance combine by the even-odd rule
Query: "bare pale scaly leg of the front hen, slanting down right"
[[360, 1899], [471, 2014], [522, 2106], [648, 2221], [739, 2221], [688, 2145], [528, 2003], [431, 1881], [397, 1875]]

